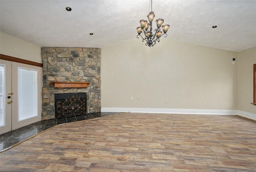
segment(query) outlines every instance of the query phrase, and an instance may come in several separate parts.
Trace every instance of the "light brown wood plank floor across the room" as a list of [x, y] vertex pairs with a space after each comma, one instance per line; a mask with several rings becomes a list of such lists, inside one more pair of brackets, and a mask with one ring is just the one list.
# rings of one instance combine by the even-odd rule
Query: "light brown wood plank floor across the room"
[[255, 172], [256, 122], [122, 113], [56, 125], [0, 153], [0, 171]]

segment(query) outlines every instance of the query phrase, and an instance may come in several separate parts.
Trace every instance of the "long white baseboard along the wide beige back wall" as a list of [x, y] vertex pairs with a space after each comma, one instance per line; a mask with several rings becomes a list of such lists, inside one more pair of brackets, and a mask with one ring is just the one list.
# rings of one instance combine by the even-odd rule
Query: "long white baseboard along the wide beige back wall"
[[238, 110], [215, 109], [161, 109], [161, 108], [101, 108], [102, 112], [133, 112], [133, 113], [178, 113], [202, 115], [237, 115]]

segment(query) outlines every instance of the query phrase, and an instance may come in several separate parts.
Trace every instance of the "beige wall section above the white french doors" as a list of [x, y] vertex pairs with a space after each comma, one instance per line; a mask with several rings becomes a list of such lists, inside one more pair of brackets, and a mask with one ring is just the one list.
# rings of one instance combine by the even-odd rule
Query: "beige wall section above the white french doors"
[[0, 32], [0, 53], [42, 63], [41, 47], [3, 32]]

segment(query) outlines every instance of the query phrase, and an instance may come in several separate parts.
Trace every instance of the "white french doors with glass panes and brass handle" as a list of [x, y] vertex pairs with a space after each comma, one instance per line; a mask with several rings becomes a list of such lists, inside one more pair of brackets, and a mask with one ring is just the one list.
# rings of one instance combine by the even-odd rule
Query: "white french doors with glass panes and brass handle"
[[41, 68], [0, 61], [0, 134], [41, 120]]

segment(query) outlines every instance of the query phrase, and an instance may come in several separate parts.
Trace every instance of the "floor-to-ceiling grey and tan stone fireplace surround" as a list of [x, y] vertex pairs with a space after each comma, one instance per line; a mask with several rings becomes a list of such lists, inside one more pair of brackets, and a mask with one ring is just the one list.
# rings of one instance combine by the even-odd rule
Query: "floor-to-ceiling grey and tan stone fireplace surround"
[[[85, 109], [80, 109], [81, 106], [78, 104], [77, 106], [70, 106], [70, 108], [74, 108], [73, 110], [68, 110], [67, 108], [66, 111], [74, 113], [77, 110], [75, 115], [80, 112], [100, 112], [100, 49], [42, 47], [42, 60], [42, 120], [56, 117], [57, 110], [59, 109], [55, 108], [55, 96], [60, 94], [70, 96], [71, 93], [75, 95], [76, 93], [82, 93], [86, 95]], [[54, 82], [87, 82], [89, 84], [87, 87], [56, 88]], [[64, 109], [64, 114], [68, 116], [66, 111]]]

